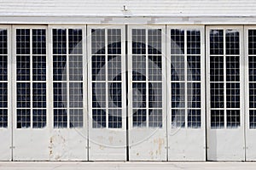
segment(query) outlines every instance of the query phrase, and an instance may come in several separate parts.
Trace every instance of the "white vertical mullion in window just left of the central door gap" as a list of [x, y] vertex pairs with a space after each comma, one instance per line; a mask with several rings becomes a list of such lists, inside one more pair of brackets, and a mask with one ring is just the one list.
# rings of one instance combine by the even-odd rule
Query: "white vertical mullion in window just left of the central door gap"
[[106, 128], [108, 128], [108, 29], [105, 32]]

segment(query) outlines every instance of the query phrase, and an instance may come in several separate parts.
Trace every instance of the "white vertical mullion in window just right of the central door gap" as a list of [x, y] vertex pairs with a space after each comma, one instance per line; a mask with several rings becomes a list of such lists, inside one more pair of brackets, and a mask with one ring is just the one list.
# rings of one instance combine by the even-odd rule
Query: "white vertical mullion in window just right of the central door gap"
[[149, 101], [149, 88], [148, 88], [148, 28], [145, 28], [145, 45], [146, 45], [146, 127], [148, 127], [149, 120], [149, 109], [148, 109], [148, 101]]

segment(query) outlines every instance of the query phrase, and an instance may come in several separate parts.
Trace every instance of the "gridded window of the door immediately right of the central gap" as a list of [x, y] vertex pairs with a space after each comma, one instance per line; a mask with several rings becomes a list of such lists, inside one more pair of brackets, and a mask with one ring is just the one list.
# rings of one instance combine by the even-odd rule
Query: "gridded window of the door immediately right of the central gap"
[[162, 127], [162, 29], [132, 29], [131, 37], [132, 126]]

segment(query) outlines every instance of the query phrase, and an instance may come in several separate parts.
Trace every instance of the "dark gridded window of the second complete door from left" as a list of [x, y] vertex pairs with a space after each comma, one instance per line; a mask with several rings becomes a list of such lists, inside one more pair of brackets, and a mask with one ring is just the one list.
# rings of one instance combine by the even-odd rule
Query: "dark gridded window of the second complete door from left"
[[53, 29], [54, 127], [84, 127], [83, 31]]

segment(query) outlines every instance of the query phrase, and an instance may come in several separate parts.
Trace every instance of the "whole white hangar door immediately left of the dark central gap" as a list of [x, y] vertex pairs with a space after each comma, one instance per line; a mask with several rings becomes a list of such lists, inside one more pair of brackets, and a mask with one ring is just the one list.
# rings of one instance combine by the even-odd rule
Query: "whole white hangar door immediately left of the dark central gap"
[[125, 161], [125, 26], [88, 26], [87, 37], [89, 161]]

